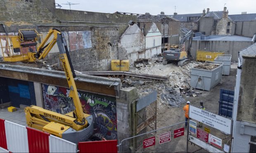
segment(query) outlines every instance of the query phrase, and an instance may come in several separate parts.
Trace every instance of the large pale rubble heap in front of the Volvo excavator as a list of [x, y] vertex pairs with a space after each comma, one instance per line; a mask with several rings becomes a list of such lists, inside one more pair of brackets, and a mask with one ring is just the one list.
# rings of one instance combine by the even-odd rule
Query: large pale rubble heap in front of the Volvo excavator
[[130, 69], [131, 72], [152, 74], [159, 76], [168, 76], [168, 81], [142, 81], [142, 80], [123, 80], [123, 88], [134, 86], [137, 88], [140, 96], [156, 90], [158, 93], [158, 107], [162, 104], [168, 104], [171, 107], [180, 107], [180, 104], [185, 102], [183, 96], [196, 97], [199, 93], [194, 88], [190, 87], [190, 70], [199, 63], [190, 62], [183, 67], [178, 67], [175, 64], [163, 65], [162, 63], [151, 60], [148, 65]]

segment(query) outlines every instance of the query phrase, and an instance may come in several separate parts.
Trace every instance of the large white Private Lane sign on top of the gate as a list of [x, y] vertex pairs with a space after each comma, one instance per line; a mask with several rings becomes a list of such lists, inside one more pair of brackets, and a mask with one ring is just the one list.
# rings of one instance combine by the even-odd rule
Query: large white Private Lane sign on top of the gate
[[231, 120], [190, 105], [189, 117], [225, 133], [231, 133]]

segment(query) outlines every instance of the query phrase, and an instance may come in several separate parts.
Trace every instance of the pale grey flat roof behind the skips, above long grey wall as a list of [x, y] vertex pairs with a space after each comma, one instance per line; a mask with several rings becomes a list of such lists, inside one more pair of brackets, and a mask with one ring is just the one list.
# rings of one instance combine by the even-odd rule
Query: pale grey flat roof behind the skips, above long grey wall
[[252, 38], [250, 37], [242, 37], [242, 36], [223, 36], [223, 35], [209, 35], [209, 36], [198, 36], [193, 37], [193, 40], [201, 40], [201, 41], [246, 41], [252, 42]]

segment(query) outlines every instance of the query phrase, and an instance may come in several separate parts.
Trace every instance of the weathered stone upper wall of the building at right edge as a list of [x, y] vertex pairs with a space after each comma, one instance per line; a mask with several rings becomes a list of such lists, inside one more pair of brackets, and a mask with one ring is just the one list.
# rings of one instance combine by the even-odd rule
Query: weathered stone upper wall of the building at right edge
[[256, 123], [256, 57], [243, 56], [237, 121]]

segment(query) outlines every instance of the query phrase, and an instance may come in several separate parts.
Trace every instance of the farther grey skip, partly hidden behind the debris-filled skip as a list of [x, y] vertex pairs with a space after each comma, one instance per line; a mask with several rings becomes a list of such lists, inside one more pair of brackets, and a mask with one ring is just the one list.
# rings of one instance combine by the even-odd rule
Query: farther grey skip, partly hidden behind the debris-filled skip
[[222, 75], [229, 75], [231, 69], [231, 55], [218, 55], [214, 61], [223, 63]]

